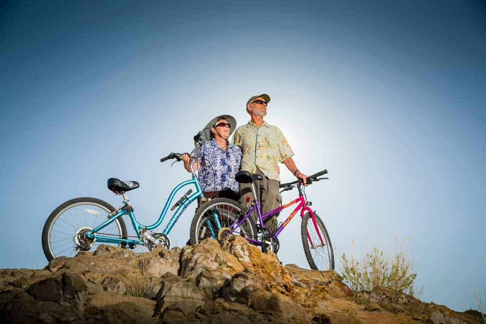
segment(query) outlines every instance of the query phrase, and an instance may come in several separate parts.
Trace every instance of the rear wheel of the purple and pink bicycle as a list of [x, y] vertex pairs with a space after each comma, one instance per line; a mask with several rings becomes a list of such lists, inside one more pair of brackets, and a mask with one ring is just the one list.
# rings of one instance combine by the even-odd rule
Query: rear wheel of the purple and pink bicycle
[[[199, 244], [203, 239], [217, 239], [218, 234], [229, 232], [229, 227], [238, 219], [243, 218], [242, 207], [234, 200], [216, 198], [202, 205], [191, 222], [191, 245]], [[248, 217], [234, 234], [245, 238], [256, 239], [257, 230], [251, 217]]]

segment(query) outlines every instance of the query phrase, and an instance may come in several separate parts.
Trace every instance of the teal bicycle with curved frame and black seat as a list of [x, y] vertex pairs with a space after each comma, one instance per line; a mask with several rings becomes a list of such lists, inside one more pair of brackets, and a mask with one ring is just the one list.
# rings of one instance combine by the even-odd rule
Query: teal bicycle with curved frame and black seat
[[[175, 159], [181, 160], [180, 153], [171, 153], [161, 158], [160, 162]], [[186, 192], [173, 206], [177, 208], [163, 231], [152, 231], [164, 220], [175, 194], [186, 186], [195, 186]], [[75, 198], [57, 207], [47, 219], [42, 231], [42, 248], [48, 261], [58, 256], [75, 256], [78, 252], [94, 251], [100, 244], [114, 244], [121, 248], [127, 246], [134, 249], [143, 245], [149, 251], [162, 245], [171, 248], [169, 233], [181, 214], [193, 201], [203, 197], [203, 191], [197, 175], [192, 172], [192, 178], [177, 185], [169, 195], [158, 220], [152, 225], [142, 225], [135, 218], [134, 209], [128, 200], [126, 192], [139, 188], [136, 181], [123, 182], [116, 178], [108, 179], [108, 189], [123, 197], [121, 207], [115, 209], [112, 205], [96, 198]], [[192, 194], [191, 194], [192, 193]], [[136, 236], [128, 236], [122, 216], [128, 215]], [[151, 231], [151, 232], [149, 232]]]

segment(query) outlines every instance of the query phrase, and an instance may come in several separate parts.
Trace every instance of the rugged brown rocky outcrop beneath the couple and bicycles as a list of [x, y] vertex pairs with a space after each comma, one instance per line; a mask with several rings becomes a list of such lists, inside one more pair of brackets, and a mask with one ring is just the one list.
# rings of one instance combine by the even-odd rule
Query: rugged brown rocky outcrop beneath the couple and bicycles
[[136, 254], [101, 245], [43, 270], [0, 270], [3, 323], [481, 323], [333, 271], [283, 266], [245, 239]]

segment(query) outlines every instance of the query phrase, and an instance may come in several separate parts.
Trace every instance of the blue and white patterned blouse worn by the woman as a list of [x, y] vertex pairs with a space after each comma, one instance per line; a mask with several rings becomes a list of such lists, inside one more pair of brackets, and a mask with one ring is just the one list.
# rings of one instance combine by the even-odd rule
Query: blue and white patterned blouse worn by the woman
[[[195, 149], [191, 152], [195, 159]], [[235, 180], [236, 172], [240, 171], [242, 150], [239, 146], [229, 144], [226, 151], [222, 150], [216, 141], [210, 139], [203, 142], [199, 148], [199, 182], [203, 191], [233, 190], [239, 193]]]

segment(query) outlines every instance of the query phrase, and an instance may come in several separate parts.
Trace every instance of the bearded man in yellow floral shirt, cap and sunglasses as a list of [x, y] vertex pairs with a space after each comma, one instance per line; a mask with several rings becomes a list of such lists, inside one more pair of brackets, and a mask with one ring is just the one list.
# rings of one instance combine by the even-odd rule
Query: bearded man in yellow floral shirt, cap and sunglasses
[[[241, 169], [263, 177], [263, 180], [255, 181], [262, 215], [279, 207], [282, 200], [278, 191], [278, 162], [285, 164], [291, 173], [302, 179], [304, 185], [307, 179], [307, 175], [295, 166], [292, 159], [294, 151], [282, 132], [276, 126], [263, 121], [263, 117], [267, 115], [268, 102], [270, 96], [267, 94], [252, 96], [246, 102], [246, 112], [250, 115], [250, 121], [236, 129], [232, 140], [232, 143], [240, 146], [243, 151]], [[250, 184], [240, 184], [240, 195], [240, 203], [246, 202], [246, 197], [252, 197]], [[253, 216], [258, 224], [258, 216]], [[277, 216], [278, 214], [265, 220], [265, 228], [270, 232], [277, 229]]]

